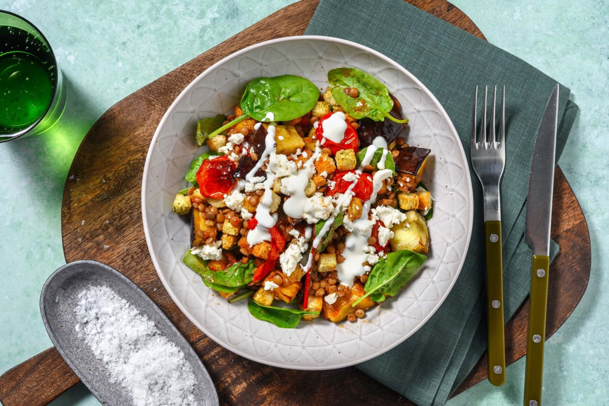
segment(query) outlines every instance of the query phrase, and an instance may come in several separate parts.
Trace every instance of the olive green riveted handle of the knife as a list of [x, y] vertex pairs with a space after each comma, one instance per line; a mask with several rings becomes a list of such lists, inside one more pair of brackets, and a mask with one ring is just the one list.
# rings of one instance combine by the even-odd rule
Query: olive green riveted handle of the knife
[[546, 339], [547, 280], [550, 258], [533, 255], [524, 406], [541, 406], [543, 347]]

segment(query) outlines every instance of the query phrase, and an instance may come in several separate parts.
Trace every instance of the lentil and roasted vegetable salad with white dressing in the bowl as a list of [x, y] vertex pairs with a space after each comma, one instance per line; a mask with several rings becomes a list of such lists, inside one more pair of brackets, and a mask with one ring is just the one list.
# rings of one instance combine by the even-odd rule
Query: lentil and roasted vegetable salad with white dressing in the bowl
[[[257, 78], [233, 114], [197, 122], [173, 211], [191, 218], [184, 263], [229, 303], [294, 328], [356, 321], [393, 297], [429, 250], [430, 150], [400, 137], [400, 103], [373, 76]], [[207, 147], [207, 148], [206, 148]]]

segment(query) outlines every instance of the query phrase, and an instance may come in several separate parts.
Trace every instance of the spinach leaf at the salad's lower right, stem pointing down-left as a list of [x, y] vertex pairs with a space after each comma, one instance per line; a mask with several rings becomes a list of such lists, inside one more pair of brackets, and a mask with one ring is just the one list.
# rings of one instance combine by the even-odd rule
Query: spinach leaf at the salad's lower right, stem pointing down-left
[[353, 303], [353, 307], [370, 296], [373, 301], [384, 301], [395, 296], [423, 265], [426, 256], [410, 250], [390, 252], [372, 267], [364, 285], [366, 294]]

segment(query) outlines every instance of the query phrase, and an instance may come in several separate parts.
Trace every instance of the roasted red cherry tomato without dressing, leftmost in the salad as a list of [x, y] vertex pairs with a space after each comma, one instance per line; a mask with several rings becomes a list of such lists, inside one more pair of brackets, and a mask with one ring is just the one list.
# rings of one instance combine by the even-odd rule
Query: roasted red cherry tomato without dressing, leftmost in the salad
[[205, 159], [197, 171], [197, 184], [206, 198], [222, 199], [236, 183], [236, 165], [227, 156]]

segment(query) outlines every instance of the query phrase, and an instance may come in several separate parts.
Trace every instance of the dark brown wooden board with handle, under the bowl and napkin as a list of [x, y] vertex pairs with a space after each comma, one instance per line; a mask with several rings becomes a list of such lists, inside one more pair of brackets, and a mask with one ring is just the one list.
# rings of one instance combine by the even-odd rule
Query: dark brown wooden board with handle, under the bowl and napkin
[[[445, 0], [407, 0], [484, 39], [473, 22]], [[150, 140], [166, 109], [208, 66], [260, 41], [301, 35], [319, 0], [289, 5], [169, 74], [124, 98], [86, 135], [66, 180], [62, 234], [66, 261], [102, 261], [140, 286], [192, 343], [216, 383], [222, 405], [413, 405], [354, 367], [294, 371], [247, 360], [217, 345], [177, 308], [150, 260], [140, 208], [141, 179]], [[289, 21], [290, 24], [274, 24]], [[561, 252], [551, 266], [547, 336], [579, 303], [590, 277], [590, 236], [582, 210], [560, 168], [556, 170], [552, 238]], [[528, 303], [507, 323], [507, 363], [525, 354]], [[457, 393], [486, 378], [486, 356]], [[4, 406], [46, 405], [79, 381], [55, 348], [0, 377]]]

